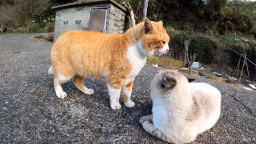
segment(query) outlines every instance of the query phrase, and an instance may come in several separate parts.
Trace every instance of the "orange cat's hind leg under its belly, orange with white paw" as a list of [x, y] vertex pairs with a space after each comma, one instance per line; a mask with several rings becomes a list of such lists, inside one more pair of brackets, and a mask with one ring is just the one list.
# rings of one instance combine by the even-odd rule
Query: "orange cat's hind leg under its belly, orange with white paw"
[[80, 90], [81, 92], [91, 95], [94, 93], [94, 90], [92, 89], [88, 89], [86, 86], [84, 86], [84, 77], [83, 76], [74, 76], [74, 84], [77, 87], [78, 90]]

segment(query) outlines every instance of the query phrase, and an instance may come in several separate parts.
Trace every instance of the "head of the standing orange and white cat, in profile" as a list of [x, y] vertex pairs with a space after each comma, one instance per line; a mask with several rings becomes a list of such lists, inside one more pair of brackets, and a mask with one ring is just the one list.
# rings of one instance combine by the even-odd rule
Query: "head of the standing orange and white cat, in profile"
[[168, 43], [170, 38], [163, 27], [162, 21], [154, 22], [146, 18], [140, 41], [143, 49], [149, 53], [149, 56], [164, 54], [169, 51]]

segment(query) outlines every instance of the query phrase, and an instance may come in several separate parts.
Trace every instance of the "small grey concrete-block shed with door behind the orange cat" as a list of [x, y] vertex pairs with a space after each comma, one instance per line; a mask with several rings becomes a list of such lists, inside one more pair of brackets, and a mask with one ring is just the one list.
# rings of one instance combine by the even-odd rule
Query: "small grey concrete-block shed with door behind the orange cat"
[[54, 41], [69, 30], [124, 33], [127, 10], [113, 0], [85, 0], [53, 6], [56, 10]]

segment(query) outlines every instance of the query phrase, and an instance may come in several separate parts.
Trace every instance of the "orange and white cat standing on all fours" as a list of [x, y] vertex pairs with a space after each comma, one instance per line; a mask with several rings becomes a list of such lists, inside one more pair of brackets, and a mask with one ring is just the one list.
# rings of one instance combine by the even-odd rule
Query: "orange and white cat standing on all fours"
[[134, 107], [135, 103], [131, 101], [134, 77], [148, 56], [169, 50], [168, 42], [163, 22], [147, 18], [124, 34], [68, 31], [52, 47], [52, 67], [48, 71], [54, 75], [55, 93], [58, 98], [66, 98], [61, 84], [74, 77], [77, 89], [90, 95], [94, 91], [84, 86], [84, 78], [106, 78], [111, 109], [121, 108], [121, 90], [124, 105]]

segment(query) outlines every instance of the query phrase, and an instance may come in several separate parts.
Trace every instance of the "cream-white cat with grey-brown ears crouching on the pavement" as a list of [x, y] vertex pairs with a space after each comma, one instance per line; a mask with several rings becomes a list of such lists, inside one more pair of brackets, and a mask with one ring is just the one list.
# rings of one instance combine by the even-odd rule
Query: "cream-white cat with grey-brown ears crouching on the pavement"
[[220, 116], [221, 93], [205, 83], [189, 83], [178, 71], [160, 70], [151, 81], [153, 115], [140, 118], [146, 132], [170, 143], [188, 143]]

